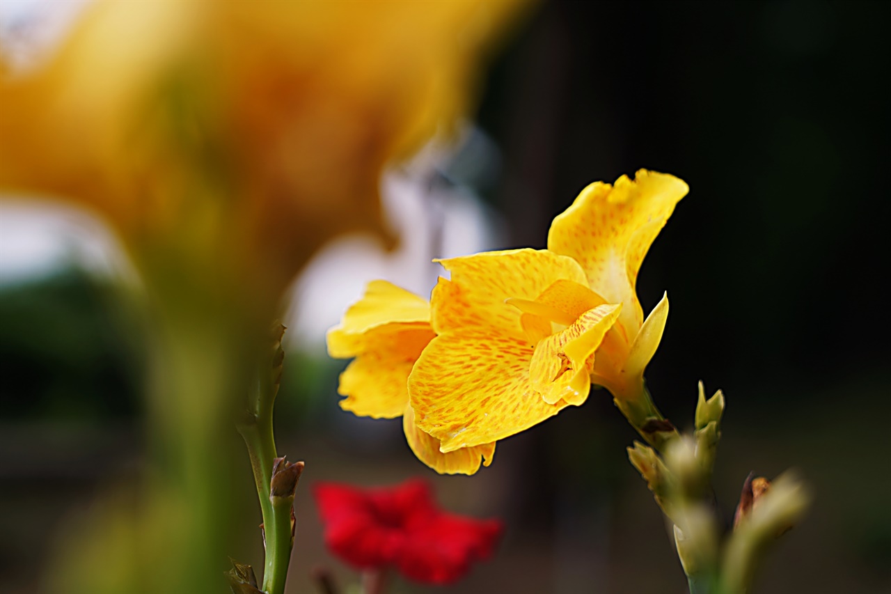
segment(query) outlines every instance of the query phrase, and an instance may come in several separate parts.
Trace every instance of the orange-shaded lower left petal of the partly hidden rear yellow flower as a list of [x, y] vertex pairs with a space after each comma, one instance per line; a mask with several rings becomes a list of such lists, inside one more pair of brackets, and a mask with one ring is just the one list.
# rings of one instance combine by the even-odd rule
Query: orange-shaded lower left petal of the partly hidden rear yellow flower
[[340, 374], [340, 408], [359, 417], [395, 418], [408, 404], [408, 375], [433, 339], [429, 328], [397, 323], [364, 334], [366, 350]]

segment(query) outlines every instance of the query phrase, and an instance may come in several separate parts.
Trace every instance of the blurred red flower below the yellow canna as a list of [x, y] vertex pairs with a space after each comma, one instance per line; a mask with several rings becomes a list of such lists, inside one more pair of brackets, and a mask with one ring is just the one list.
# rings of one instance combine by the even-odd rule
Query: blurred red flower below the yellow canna
[[368, 490], [316, 483], [314, 491], [331, 551], [358, 569], [395, 565], [416, 582], [457, 581], [472, 561], [491, 557], [502, 532], [497, 520], [441, 511], [418, 479]]

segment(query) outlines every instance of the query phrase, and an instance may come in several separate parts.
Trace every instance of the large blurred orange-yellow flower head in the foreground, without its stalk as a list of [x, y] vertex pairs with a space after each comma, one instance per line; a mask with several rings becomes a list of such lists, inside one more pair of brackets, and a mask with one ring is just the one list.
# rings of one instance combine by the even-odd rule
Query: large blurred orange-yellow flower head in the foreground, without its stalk
[[0, 68], [0, 187], [277, 295], [331, 235], [380, 231], [380, 170], [466, 111], [518, 4], [95, 2], [45, 67]]

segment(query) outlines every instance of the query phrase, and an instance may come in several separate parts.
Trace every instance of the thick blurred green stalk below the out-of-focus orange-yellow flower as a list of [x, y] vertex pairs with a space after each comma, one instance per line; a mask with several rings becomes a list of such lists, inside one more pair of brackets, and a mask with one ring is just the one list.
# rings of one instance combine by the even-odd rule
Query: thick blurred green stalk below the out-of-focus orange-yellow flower
[[166, 305], [152, 345], [152, 494], [143, 515], [155, 518], [150, 532], [164, 525], [178, 536], [144, 554], [148, 568], [133, 589], [206, 591], [219, 582], [233, 544], [232, 527], [221, 520], [234, 513], [225, 487], [225, 428], [238, 397], [234, 386], [243, 385], [246, 373], [238, 363], [238, 342], [217, 324], [216, 312], [205, 317], [175, 299]]

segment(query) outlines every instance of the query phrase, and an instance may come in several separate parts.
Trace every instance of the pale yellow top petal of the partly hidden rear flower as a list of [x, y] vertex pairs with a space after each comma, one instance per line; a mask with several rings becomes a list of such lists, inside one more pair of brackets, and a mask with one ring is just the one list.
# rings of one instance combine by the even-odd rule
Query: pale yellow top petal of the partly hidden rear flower
[[366, 336], [373, 328], [391, 323], [401, 327], [429, 327], [428, 302], [387, 281], [372, 281], [362, 299], [347, 309], [338, 326], [328, 331], [328, 354], [336, 359], [356, 357], [366, 348]]

